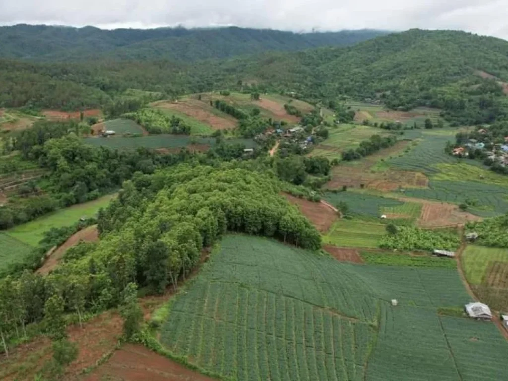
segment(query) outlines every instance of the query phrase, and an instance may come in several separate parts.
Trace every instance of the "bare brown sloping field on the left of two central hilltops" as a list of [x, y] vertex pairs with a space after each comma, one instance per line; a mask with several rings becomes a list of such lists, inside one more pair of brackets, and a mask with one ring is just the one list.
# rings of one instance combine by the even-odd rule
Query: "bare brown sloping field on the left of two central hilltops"
[[[230, 116], [217, 116], [211, 111], [211, 107], [204, 102], [188, 99], [179, 102], [155, 102], [155, 107], [179, 111], [191, 118], [199, 120], [211, 126], [214, 130], [227, 130], [236, 127], [236, 119]], [[210, 110], [209, 110], [210, 109]]]

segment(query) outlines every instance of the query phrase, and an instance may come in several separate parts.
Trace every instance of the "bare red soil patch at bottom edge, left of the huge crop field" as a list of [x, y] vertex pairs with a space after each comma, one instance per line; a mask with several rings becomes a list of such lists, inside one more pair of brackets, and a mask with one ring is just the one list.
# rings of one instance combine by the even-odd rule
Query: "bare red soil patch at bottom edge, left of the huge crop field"
[[212, 381], [141, 345], [125, 344], [85, 381]]

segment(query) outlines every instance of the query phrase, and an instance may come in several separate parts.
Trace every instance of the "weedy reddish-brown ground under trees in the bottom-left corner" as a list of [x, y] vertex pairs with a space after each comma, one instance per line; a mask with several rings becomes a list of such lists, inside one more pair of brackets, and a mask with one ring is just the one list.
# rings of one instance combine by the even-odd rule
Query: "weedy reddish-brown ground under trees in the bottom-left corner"
[[[118, 314], [105, 312], [84, 323], [83, 328], [73, 325], [67, 332], [69, 340], [78, 344], [79, 353], [62, 379], [75, 380], [79, 379], [80, 372], [114, 350], [122, 333], [122, 320]], [[0, 355], [0, 378], [9, 381], [33, 380], [51, 357], [51, 341], [46, 336], [39, 336], [18, 345], [11, 351], [9, 358]]]

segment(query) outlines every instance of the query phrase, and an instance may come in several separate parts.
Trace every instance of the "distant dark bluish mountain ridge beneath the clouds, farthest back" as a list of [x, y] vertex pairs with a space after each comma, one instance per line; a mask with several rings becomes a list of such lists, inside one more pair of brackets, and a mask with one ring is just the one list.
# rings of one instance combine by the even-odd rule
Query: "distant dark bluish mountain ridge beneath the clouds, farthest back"
[[380, 30], [293, 33], [239, 27], [114, 29], [25, 25], [0, 27], [0, 57], [37, 60], [89, 58], [197, 60], [345, 46], [386, 35]]

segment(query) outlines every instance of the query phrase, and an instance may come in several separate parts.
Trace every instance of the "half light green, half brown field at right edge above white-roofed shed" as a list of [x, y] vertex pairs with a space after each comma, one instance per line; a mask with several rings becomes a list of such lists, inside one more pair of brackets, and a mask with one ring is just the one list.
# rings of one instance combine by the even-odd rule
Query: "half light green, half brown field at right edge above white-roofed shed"
[[508, 249], [468, 245], [461, 265], [473, 292], [496, 310], [508, 308]]

